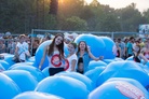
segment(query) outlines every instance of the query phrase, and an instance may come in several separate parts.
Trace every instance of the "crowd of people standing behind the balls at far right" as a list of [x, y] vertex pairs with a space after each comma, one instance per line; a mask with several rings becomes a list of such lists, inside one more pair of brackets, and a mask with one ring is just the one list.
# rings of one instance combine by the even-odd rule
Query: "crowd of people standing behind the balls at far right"
[[130, 37], [124, 40], [114, 39], [116, 46], [113, 46], [113, 53], [117, 57], [126, 59], [133, 56], [133, 60], [141, 62], [144, 65], [149, 59], [149, 39]]

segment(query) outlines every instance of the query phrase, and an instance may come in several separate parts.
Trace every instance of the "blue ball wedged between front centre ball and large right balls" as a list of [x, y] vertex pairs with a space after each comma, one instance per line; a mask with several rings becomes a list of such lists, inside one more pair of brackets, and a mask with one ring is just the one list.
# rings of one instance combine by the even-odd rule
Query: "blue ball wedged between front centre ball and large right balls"
[[96, 82], [98, 80], [99, 74], [106, 69], [106, 67], [96, 67], [92, 70], [89, 70], [84, 73], [85, 76], [87, 76], [93, 82], [94, 88], [96, 87]]

